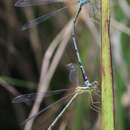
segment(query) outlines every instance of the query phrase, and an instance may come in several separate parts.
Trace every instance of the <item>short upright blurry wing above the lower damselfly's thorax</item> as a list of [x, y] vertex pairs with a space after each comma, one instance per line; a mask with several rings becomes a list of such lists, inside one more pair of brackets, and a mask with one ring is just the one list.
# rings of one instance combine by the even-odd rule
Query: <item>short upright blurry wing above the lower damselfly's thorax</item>
[[76, 83], [79, 85], [79, 73], [78, 73], [78, 66], [77, 64], [70, 63], [67, 64], [67, 69], [69, 70], [69, 79], [72, 83]]

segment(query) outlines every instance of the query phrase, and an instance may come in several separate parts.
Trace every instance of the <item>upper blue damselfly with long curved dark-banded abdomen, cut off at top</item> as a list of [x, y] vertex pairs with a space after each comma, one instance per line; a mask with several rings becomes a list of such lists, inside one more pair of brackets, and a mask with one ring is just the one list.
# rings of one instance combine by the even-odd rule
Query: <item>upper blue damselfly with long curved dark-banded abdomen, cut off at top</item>
[[[34, 6], [34, 5], [41, 5], [41, 4], [45, 5], [45, 4], [57, 3], [57, 2], [64, 2], [64, 0], [18, 0], [15, 3], [15, 6], [17, 6], [17, 7], [26, 7], [26, 6]], [[80, 65], [80, 69], [81, 69], [81, 72], [82, 72], [84, 82], [85, 82], [86, 86], [88, 86], [89, 85], [88, 78], [87, 78], [87, 75], [85, 73], [84, 67], [82, 65], [80, 54], [79, 54], [77, 43], [76, 43], [76, 39], [75, 39], [75, 24], [76, 24], [78, 15], [79, 15], [79, 13], [80, 13], [80, 11], [82, 9], [82, 6], [85, 5], [85, 4], [89, 4], [90, 0], [79, 0], [76, 3], [79, 3], [79, 4], [78, 4], [77, 11], [76, 11], [76, 15], [75, 15], [75, 17], [73, 19], [72, 40], [73, 40], [75, 53], [76, 53], [76, 56], [77, 56], [77, 59], [78, 59], [79, 65]], [[75, 3], [73, 3], [73, 4], [75, 4]], [[25, 30], [27, 28], [32, 27], [33, 25], [39, 24], [39, 23], [47, 20], [51, 16], [54, 16], [56, 13], [64, 10], [65, 8], [67, 8], [67, 6], [65, 6], [65, 7], [61, 8], [59, 10], [56, 10], [55, 12], [52, 12], [50, 14], [40, 16], [40, 17], [30, 21], [28, 24], [25, 24], [22, 29]]]

